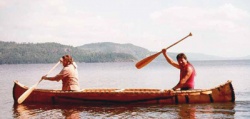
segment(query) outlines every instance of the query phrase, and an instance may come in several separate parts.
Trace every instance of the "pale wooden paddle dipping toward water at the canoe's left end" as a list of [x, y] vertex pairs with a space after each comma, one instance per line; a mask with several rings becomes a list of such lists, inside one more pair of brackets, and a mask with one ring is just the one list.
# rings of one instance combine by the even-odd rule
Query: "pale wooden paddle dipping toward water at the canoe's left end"
[[[54, 70], [57, 65], [60, 64], [60, 61], [52, 68], [50, 71], [46, 74], [49, 75], [52, 70]], [[43, 79], [40, 79], [39, 82], [37, 82], [35, 85], [31, 86], [27, 91], [25, 91], [17, 100], [18, 104], [21, 104], [31, 93], [32, 91], [37, 87], [37, 85], [42, 81]]]

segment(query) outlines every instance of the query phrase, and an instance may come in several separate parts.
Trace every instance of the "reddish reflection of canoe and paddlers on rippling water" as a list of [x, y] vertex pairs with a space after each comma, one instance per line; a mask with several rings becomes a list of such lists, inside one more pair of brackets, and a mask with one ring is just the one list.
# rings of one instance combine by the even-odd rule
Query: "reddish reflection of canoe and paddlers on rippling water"
[[[235, 103], [180, 105], [14, 104], [14, 118], [233, 118]], [[155, 115], [156, 114], [156, 115]]]

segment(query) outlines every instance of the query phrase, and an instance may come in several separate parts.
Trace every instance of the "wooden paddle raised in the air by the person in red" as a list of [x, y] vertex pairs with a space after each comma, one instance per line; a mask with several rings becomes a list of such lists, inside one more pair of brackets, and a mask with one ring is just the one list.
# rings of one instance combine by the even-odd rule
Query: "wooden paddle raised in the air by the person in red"
[[[178, 44], [179, 42], [183, 41], [184, 39], [186, 39], [186, 38], [189, 37], [189, 36], [192, 36], [192, 33], [189, 33], [186, 37], [182, 38], [181, 40], [175, 42], [174, 44], [168, 46], [168, 47], [165, 48], [165, 49], [169, 49], [169, 48], [173, 47], [174, 45]], [[135, 65], [136, 68], [137, 68], [137, 69], [140, 69], [140, 68], [146, 66], [147, 64], [149, 64], [152, 60], [154, 60], [154, 59], [155, 59], [158, 55], [160, 55], [160, 54], [161, 54], [161, 51], [158, 52], [158, 53], [156, 53], [156, 54], [153, 54], [153, 55], [151, 55], [151, 56], [148, 56], [148, 57], [144, 58], [143, 60], [137, 62], [136, 65]]]

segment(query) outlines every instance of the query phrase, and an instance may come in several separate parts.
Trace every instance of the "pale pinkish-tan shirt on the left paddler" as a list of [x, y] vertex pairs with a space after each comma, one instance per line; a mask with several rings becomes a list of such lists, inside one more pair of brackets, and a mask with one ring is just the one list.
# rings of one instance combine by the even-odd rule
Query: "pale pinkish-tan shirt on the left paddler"
[[55, 77], [51, 77], [51, 80], [62, 80], [62, 90], [80, 90], [78, 71], [75, 63], [64, 67], [59, 74]]

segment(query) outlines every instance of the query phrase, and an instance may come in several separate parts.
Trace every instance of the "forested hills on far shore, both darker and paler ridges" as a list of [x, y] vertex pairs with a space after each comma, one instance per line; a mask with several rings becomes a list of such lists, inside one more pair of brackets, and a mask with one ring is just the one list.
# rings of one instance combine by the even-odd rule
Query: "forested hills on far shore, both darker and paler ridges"
[[0, 64], [53, 63], [65, 54], [77, 62], [131, 62], [148, 50], [132, 44], [97, 43], [73, 47], [58, 43], [15, 43], [0, 41]]

